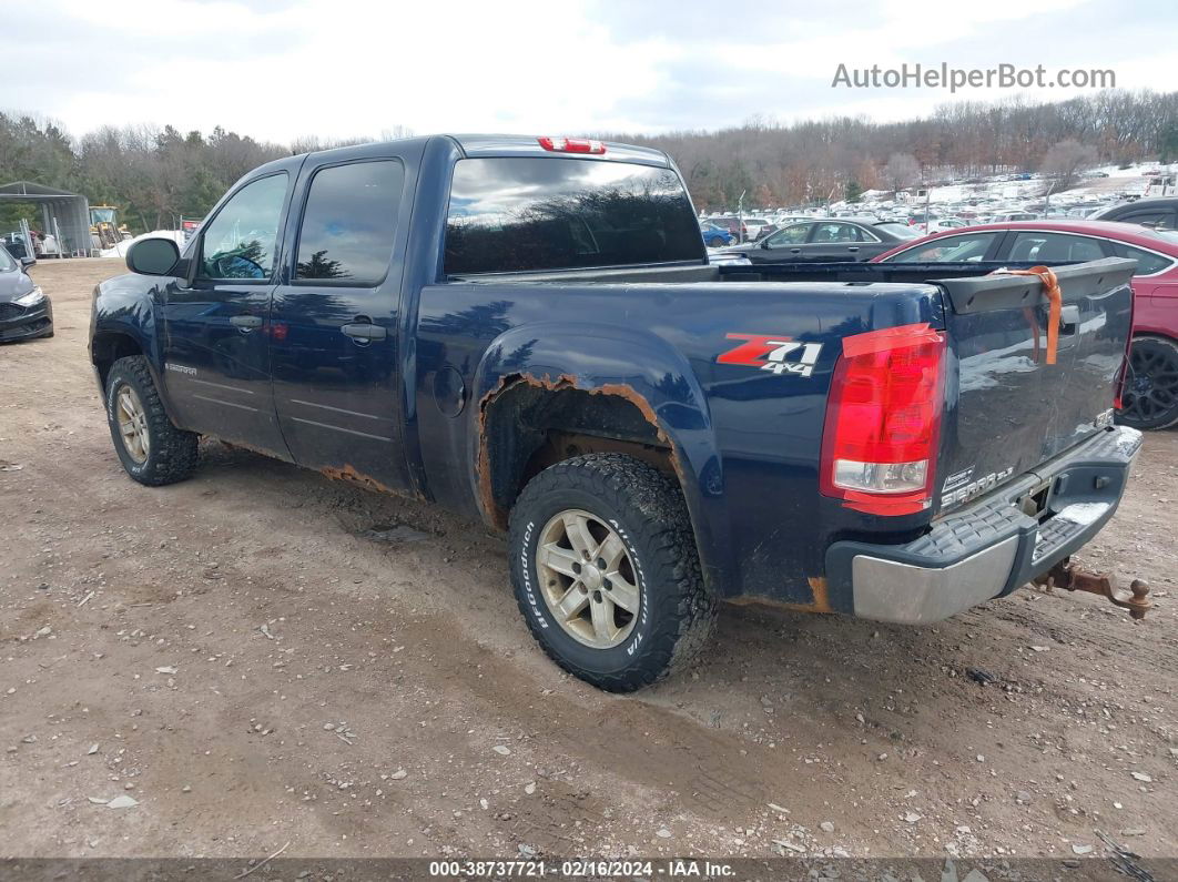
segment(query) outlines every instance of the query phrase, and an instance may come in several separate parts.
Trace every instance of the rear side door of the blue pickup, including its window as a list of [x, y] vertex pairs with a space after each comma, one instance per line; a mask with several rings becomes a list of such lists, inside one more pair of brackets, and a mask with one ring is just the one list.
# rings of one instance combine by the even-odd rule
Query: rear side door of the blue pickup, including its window
[[309, 158], [296, 188], [271, 313], [274, 406], [294, 462], [403, 490], [397, 329], [415, 158], [393, 145], [343, 155]]

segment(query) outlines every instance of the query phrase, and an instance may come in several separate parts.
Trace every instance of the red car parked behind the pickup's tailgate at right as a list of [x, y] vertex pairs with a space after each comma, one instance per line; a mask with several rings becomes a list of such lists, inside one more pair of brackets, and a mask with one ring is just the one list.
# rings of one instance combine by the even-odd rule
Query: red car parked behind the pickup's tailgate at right
[[1019, 220], [947, 230], [872, 263], [1064, 264], [1129, 257], [1133, 277], [1132, 372], [1118, 420], [1137, 429], [1178, 423], [1178, 232], [1110, 220]]

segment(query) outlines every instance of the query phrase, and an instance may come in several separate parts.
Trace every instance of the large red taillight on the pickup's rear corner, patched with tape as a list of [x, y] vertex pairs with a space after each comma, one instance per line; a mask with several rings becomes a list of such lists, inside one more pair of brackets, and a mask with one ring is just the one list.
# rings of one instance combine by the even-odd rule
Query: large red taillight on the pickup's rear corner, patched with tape
[[819, 488], [871, 515], [932, 504], [945, 334], [927, 323], [847, 337], [834, 367]]

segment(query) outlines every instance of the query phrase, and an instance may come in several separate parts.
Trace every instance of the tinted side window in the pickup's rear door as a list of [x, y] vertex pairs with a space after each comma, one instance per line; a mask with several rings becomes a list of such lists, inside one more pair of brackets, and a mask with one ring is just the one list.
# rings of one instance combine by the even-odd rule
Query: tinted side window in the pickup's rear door
[[389, 272], [405, 184], [395, 159], [322, 168], [311, 179], [294, 281], [379, 285]]

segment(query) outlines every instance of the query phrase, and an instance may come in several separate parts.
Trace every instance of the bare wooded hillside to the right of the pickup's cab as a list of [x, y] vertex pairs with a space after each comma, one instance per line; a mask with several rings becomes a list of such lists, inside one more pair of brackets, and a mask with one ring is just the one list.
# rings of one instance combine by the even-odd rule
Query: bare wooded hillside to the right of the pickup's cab
[[[823, 203], [892, 188], [889, 161], [912, 157], [919, 180], [1039, 171], [1060, 142], [1093, 161], [1124, 165], [1178, 158], [1178, 92], [1100, 92], [1057, 104], [1013, 98], [962, 101], [904, 122], [840, 118], [776, 125], [761, 119], [717, 132], [610, 133], [667, 151], [700, 207]], [[1058, 153], [1058, 151], [1057, 151]], [[918, 183], [918, 181], [913, 181]]]

